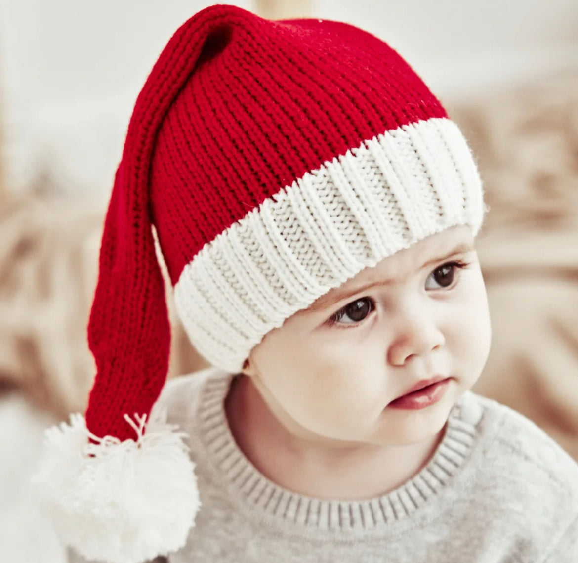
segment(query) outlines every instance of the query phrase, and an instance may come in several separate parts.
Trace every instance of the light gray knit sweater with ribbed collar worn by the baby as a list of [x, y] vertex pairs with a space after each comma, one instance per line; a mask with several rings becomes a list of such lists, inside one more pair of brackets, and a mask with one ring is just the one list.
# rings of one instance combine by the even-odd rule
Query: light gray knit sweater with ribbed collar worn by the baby
[[165, 386], [202, 508], [186, 546], [155, 562], [578, 563], [578, 465], [514, 410], [468, 391], [418, 475], [329, 502], [277, 487], [244, 457], [223, 407], [231, 379], [210, 368]]

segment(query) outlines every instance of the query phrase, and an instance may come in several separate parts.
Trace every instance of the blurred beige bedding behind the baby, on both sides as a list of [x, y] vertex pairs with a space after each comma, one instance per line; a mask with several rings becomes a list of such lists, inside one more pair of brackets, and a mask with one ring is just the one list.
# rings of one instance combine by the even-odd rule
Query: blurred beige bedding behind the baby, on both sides
[[[578, 460], [578, 77], [455, 105], [491, 210], [478, 239], [493, 326], [475, 391]], [[86, 403], [103, 209], [36, 195], [0, 210], [0, 377], [58, 416]], [[173, 319], [174, 320], [174, 319]], [[174, 323], [171, 375], [205, 366]]]

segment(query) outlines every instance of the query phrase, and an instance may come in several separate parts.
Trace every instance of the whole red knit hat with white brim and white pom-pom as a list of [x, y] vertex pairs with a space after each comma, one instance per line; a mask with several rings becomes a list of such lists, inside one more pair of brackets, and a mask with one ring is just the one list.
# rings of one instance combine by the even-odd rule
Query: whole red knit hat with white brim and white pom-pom
[[193, 16], [140, 92], [114, 180], [86, 424], [50, 432], [39, 477], [66, 542], [138, 562], [184, 545], [198, 509], [181, 436], [146, 424], [170, 342], [153, 225], [192, 344], [236, 372], [325, 292], [446, 228], [477, 234], [485, 210], [459, 129], [380, 39], [234, 6]]

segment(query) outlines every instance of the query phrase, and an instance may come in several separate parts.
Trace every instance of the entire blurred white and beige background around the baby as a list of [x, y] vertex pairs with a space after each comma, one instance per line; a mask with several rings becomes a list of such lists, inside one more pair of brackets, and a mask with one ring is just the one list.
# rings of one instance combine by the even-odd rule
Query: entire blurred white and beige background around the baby
[[[490, 205], [477, 247], [493, 342], [474, 390], [578, 460], [578, 3], [232, 3], [368, 29], [442, 99]], [[94, 375], [85, 330], [132, 105], [172, 33], [209, 4], [0, 0], [0, 546], [11, 563], [65, 561], [28, 480], [43, 429], [84, 409]], [[170, 375], [204, 367], [173, 321]]]

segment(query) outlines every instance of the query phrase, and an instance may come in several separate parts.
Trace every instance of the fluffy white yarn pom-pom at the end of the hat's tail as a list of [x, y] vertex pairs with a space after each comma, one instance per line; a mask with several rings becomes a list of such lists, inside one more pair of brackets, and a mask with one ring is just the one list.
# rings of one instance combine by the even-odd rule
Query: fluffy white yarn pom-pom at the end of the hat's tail
[[[141, 563], [183, 547], [200, 502], [184, 434], [135, 415], [137, 440], [90, 434], [73, 414], [46, 431], [33, 484], [66, 545], [88, 560]], [[88, 437], [95, 442], [88, 442]]]

